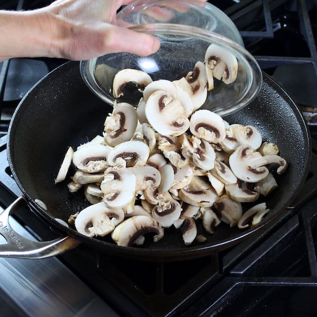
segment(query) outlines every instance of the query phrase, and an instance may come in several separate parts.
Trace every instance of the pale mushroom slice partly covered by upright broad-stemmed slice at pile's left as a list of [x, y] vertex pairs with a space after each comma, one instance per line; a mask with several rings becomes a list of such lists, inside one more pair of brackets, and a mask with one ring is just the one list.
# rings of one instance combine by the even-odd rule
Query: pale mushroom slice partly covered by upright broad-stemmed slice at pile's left
[[136, 191], [142, 191], [147, 188], [157, 188], [161, 184], [161, 174], [159, 170], [152, 166], [144, 165], [140, 167], [127, 168], [135, 175]]

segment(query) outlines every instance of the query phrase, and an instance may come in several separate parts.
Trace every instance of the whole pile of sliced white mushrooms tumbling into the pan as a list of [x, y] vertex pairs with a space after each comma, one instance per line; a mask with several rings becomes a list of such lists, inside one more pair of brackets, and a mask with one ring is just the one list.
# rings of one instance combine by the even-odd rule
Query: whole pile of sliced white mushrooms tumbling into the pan
[[[119, 71], [113, 96], [120, 99], [129, 82], [143, 96], [136, 107], [115, 102], [103, 136], [76, 151], [68, 148], [55, 182], [65, 180], [72, 162], [77, 171], [68, 189], [84, 187], [91, 203], [71, 215], [69, 225], [90, 237], [111, 234], [119, 246], [142, 245], [147, 232], [159, 241], [171, 226], [191, 245], [206, 241], [221, 222], [257, 225], [270, 211], [266, 203], [246, 211], [242, 203], [276, 189], [271, 172], [285, 172], [287, 162], [254, 126], [199, 110], [214, 78], [231, 84], [237, 68], [235, 56], [211, 44], [205, 61], [173, 82], [152, 81], [136, 69]], [[202, 221], [203, 234], [197, 234], [196, 221]]]

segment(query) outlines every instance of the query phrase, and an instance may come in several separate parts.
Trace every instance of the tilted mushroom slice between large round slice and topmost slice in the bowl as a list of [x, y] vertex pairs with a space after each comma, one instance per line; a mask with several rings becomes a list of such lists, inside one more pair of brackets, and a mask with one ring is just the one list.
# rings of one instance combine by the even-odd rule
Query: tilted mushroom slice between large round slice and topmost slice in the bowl
[[207, 74], [206, 66], [198, 61], [193, 71], [178, 81], [173, 81], [177, 87], [185, 91], [192, 100], [193, 111], [199, 109], [207, 99]]

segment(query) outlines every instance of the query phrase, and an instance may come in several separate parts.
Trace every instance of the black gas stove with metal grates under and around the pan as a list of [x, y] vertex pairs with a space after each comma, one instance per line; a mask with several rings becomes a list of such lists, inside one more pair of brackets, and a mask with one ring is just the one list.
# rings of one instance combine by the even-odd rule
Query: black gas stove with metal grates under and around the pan
[[[35, 9], [48, 3], [7, 1], [0, 7]], [[0, 315], [316, 315], [317, 4], [304, 0], [210, 3], [232, 19], [261, 68], [304, 111], [313, 137], [312, 160], [295, 200], [274, 223], [249, 239], [195, 260], [127, 260], [85, 245], [48, 259], [0, 258]], [[0, 205], [4, 208], [21, 195], [6, 152], [11, 114], [24, 94], [64, 61], [21, 58], [1, 64]], [[59, 236], [26, 207], [17, 210], [10, 222], [33, 240]]]

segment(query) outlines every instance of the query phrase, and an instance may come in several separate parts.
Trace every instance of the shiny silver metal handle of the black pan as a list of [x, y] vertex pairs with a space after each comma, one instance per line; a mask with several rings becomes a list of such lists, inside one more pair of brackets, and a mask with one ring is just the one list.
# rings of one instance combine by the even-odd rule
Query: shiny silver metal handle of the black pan
[[80, 244], [80, 241], [71, 236], [39, 242], [26, 239], [17, 233], [9, 223], [9, 215], [18, 209], [22, 202], [26, 203], [24, 196], [18, 197], [0, 214], [0, 234], [7, 240], [7, 244], [0, 245], [0, 257], [43, 259], [60, 255]]

